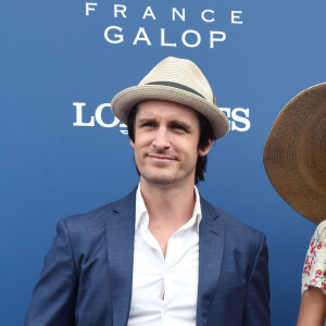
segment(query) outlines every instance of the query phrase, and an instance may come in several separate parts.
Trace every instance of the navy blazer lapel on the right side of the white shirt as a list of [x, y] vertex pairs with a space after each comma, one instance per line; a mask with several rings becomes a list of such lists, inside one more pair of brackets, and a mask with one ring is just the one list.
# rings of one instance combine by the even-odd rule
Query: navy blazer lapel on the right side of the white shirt
[[220, 278], [224, 247], [224, 225], [218, 218], [218, 212], [202, 198], [201, 210], [197, 326], [206, 324], [210, 303]]

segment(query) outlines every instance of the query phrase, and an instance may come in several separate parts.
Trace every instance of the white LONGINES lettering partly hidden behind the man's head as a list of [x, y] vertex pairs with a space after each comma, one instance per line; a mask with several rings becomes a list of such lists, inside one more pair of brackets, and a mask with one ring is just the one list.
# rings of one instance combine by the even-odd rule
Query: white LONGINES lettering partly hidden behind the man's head
[[[75, 127], [95, 127], [96, 125], [103, 128], [118, 127], [120, 131], [127, 135], [127, 126], [120, 122], [111, 111], [111, 103], [102, 103], [95, 108], [87, 108], [84, 102], [74, 102]], [[243, 108], [220, 108], [227, 116], [230, 123], [230, 130], [248, 131], [250, 129], [249, 109]]]

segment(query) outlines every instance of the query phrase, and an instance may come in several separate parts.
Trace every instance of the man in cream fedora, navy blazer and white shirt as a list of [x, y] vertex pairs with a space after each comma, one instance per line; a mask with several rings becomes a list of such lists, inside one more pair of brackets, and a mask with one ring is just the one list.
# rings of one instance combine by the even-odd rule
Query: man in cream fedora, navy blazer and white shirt
[[167, 58], [112, 111], [128, 126], [139, 186], [59, 223], [25, 325], [268, 326], [264, 235], [193, 185], [228, 131], [202, 72]]

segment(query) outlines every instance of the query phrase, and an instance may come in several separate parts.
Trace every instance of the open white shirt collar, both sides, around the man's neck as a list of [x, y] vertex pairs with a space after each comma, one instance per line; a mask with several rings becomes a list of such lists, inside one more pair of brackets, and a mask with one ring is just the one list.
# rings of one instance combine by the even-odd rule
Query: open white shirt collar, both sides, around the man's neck
[[[181, 227], [190, 227], [196, 224], [196, 229], [199, 231], [199, 225], [202, 218], [201, 214], [201, 205], [200, 205], [200, 196], [196, 186], [193, 186], [196, 202], [193, 208], [192, 217]], [[135, 229], [140, 228], [141, 225], [148, 227], [149, 224], [149, 215], [148, 210], [146, 208], [141, 191], [140, 184], [138, 185], [136, 192], [136, 216], [135, 216]]]

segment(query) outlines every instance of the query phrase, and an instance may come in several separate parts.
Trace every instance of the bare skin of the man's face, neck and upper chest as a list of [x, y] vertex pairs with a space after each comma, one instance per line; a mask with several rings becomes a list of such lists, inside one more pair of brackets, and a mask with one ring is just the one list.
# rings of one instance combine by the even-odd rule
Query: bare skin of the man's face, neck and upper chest
[[185, 105], [150, 100], [141, 102], [135, 121], [135, 160], [140, 189], [149, 212], [149, 229], [164, 256], [170, 237], [192, 216], [193, 180], [200, 124], [196, 112]]

